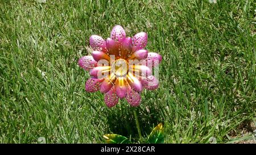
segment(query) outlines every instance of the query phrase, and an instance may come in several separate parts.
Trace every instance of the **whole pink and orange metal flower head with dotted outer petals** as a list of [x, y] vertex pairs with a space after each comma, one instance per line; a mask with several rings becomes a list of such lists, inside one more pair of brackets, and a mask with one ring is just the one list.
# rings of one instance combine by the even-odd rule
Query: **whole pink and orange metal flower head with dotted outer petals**
[[113, 28], [106, 40], [97, 35], [90, 36], [92, 56], [79, 59], [79, 66], [89, 70], [91, 76], [85, 83], [85, 90], [105, 93], [108, 107], [115, 106], [119, 98], [126, 98], [131, 106], [138, 106], [143, 87], [148, 90], [158, 88], [152, 67], [162, 61], [158, 53], [148, 53], [144, 49], [146, 44], [147, 33], [126, 37], [125, 30], [119, 25]]

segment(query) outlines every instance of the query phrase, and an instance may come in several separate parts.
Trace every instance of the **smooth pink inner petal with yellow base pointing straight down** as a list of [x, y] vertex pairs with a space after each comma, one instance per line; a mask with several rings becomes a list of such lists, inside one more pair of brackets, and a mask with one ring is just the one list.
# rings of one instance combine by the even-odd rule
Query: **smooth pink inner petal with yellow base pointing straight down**
[[125, 98], [126, 97], [126, 80], [123, 77], [117, 78], [115, 81], [115, 91], [117, 93], [117, 96], [119, 98]]

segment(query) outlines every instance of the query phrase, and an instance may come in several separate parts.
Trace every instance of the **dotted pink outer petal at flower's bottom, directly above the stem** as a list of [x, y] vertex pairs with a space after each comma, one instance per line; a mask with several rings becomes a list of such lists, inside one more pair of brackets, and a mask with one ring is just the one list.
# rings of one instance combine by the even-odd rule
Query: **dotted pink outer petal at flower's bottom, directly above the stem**
[[130, 86], [127, 87], [127, 95], [125, 98], [127, 102], [133, 107], [139, 106], [141, 103], [141, 94], [133, 90]]

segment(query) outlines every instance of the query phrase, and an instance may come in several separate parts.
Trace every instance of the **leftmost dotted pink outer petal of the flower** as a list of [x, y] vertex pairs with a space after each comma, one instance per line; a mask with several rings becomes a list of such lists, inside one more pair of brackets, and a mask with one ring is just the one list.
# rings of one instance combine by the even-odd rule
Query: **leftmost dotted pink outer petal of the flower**
[[97, 66], [97, 62], [93, 59], [92, 56], [81, 57], [78, 63], [79, 66], [85, 70], [90, 70]]

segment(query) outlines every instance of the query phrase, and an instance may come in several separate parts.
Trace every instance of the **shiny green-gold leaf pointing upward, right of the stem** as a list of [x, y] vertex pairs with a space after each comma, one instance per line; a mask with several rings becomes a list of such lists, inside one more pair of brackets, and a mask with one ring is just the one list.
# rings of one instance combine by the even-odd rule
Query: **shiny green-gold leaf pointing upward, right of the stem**
[[164, 132], [163, 132], [163, 124], [159, 123], [152, 130], [150, 135], [148, 136], [147, 143], [150, 144], [163, 144], [164, 143]]

